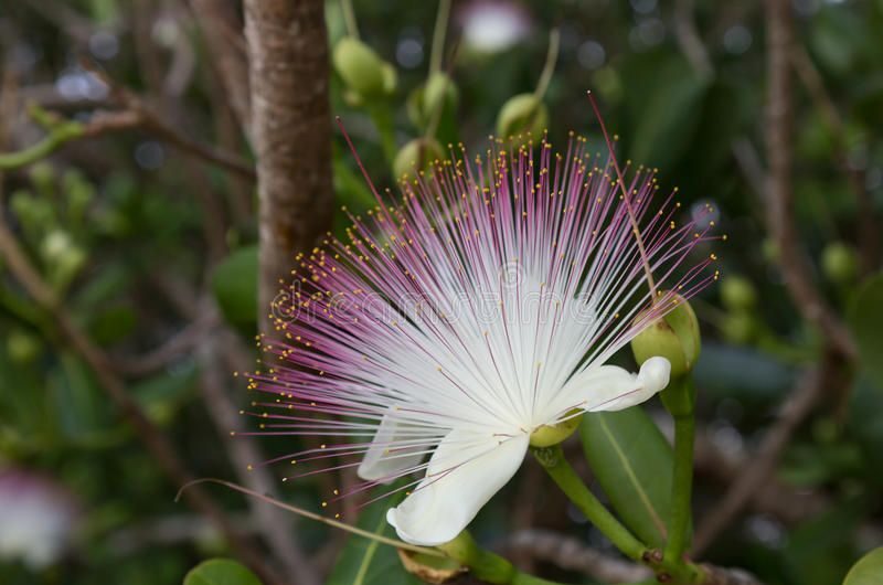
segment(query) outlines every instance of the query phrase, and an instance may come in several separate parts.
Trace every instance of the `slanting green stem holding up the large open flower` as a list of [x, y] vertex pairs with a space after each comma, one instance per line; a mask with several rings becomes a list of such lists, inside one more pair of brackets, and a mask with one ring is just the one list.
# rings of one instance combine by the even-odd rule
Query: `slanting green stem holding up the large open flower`
[[647, 546], [635, 538], [583, 483], [571, 464], [564, 458], [561, 445], [533, 448], [532, 451], [567, 498], [614, 543], [614, 546], [629, 559], [642, 562]]

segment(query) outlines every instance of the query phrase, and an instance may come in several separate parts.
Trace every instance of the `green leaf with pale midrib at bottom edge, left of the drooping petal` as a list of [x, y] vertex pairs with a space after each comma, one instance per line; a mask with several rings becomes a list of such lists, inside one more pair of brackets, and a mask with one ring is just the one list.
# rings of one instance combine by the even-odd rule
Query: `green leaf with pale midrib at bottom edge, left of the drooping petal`
[[[381, 486], [372, 497], [394, 490]], [[401, 493], [401, 492], [400, 492]], [[394, 536], [386, 522], [386, 510], [395, 506], [401, 496], [382, 498], [364, 508], [357, 525], [374, 534]], [[341, 551], [326, 585], [419, 585], [421, 581], [402, 566], [398, 553], [392, 546], [362, 536], [351, 535]]]

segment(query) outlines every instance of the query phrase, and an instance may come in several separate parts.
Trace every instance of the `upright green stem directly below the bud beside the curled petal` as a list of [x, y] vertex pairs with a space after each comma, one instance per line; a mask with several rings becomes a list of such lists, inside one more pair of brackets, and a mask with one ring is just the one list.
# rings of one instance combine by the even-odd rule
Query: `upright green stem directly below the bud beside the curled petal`
[[674, 471], [671, 482], [669, 541], [664, 559], [679, 562], [688, 546], [690, 501], [693, 488], [694, 413], [674, 417]]

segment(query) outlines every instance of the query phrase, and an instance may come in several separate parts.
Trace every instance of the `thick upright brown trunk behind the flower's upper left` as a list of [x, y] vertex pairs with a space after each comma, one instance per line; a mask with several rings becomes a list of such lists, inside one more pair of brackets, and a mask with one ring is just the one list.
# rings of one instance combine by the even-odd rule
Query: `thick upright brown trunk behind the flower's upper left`
[[259, 196], [259, 317], [291, 279], [294, 255], [331, 219], [328, 39], [321, 0], [245, 0]]

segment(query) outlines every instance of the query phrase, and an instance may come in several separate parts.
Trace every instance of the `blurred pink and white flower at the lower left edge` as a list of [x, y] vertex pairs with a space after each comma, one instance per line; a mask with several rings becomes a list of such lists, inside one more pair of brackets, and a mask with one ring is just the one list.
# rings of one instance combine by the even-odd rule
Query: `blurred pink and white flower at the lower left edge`
[[0, 560], [20, 559], [39, 570], [70, 545], [78, 518], [72, 493], [49, 478], [0, 469]]

